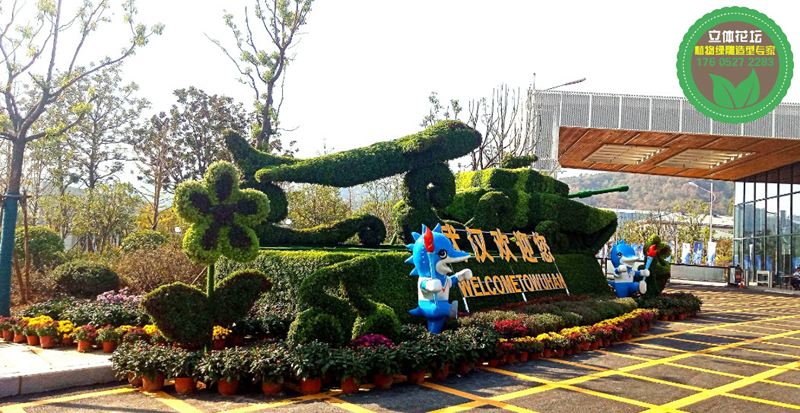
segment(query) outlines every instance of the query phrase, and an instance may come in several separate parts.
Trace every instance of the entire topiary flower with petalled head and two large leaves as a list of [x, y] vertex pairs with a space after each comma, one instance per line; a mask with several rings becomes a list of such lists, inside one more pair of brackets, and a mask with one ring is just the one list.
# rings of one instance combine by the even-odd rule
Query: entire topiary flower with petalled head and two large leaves
[[206, 293], [174, 283], [148, 293], [142, 306], [168, 339], [186, 347], [211, 341], [214, 325], [229, 325], [247, 315], [272, 283], [255, 270], [239, 271], [215, 283], [214, 262], [220, 255], [249, 262], [258, 256], [252, 227], [269, 214], [269, 200], [253, 189], [239, 189], [239, 173], [227, 162], [209, 166], [203, 182], [189, 181], [175, 191], [175, 211], [191, 227], [183, 238], [190, 260], [208, 265]]

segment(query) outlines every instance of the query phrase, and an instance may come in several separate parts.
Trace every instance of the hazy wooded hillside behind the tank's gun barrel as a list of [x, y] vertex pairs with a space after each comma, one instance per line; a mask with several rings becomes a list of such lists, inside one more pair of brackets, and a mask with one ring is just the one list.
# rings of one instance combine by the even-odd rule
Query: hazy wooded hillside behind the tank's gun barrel
[[[708, 202], [708, 193], [689, 185], [689, 182], [695, 182], [705, 189], [711, 186], [711, 181], [704, 179], [621, 172], [581, 174], [561, 180], [569, 184], [570, 192], [628, 185], [628, 192], [595, 195], [581, 201], [601, 208], [638, 210], [672, 210], [693, 199]], [[714, 181], [714, 213], [732, 215], [732, 202], [733, 182]]]

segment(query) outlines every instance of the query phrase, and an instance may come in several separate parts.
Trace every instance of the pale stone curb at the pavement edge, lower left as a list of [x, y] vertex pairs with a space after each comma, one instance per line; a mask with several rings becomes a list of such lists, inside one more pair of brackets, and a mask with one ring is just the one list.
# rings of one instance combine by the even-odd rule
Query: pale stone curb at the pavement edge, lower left
[[111, 363], [0, 377], [0, 398], [116, 381]]

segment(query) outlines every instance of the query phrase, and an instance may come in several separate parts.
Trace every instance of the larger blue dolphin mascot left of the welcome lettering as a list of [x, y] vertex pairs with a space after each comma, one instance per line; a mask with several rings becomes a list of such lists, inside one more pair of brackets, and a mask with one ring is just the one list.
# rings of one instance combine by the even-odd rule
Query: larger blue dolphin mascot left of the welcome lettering
[[411, 275], [418, 275], [418, 307], [409, 311], [411, 315], [428, 319], [428, 331], [439, 334], [447, 317], [458, 314], [458, 301], [448, 302], [450, 289], [459, 281], [472, 278], [472, 271], [461, 270], [454, 275], [450, 264], [466, 261], [469, 254], [453, 248], [453, 243], [442, 234], [441, 225], [431, 231], [422, 226], [422, 235], [413, 233], [414, 243], [406, 248], [412, 254], [406, 262], [414, 264]]

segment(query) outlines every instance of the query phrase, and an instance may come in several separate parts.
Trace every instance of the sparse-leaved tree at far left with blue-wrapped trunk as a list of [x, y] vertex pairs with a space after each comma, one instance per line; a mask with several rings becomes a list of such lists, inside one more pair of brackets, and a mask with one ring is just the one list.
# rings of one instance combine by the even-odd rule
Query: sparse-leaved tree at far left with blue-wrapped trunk
[[[91, 110], [91, 99], [74, 108], [75, 117], [57, 128], [42, 129], [37, 121], [47, 107], [75, 83], [104, 67], [122, 62], [139, 47], [147, 44], [163, 26], [148, 29], [134, 23], [137, 10], [133, 0], [123, 3], [124, 21], [131, 30], [129, 43], [116, 56], [100, 63], [82, 66], [80, 58], [89, 36], [104, 23], [110, 22], [111, 6], [107, 1], [83, 0], [64, 12], [64, 0], [40, 1], [35, 10], [14, 0], [0, 4], [0, 64], [6, 69], [0, 86], [0, 138], [11, 142], [10, 176], [3, 208], [3, 229], [0, 240], [0, 314], [9, 315], [14, 223], [22, 183], [25, 146], [45, 136], [59, 136], [77, 125]], [[32, 11], [32, 12], [31, 12]], [[27, 12], [27, 14], [26, 14]], [[30, 21], [22, 21], [30, 18]], [[66, 35], [66, 38], [62, 38]], [[72, 42], [70, 42], [72, 40]]]

